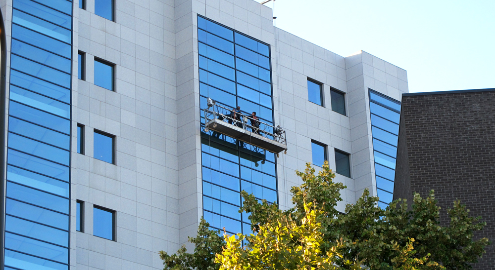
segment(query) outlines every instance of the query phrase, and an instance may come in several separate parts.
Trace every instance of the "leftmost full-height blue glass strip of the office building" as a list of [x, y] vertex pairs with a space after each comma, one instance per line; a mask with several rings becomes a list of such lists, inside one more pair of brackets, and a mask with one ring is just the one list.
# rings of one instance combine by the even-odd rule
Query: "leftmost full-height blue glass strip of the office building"
[[11, 42], [5, 269], [67, 270], [72, 2], [13, 0]]

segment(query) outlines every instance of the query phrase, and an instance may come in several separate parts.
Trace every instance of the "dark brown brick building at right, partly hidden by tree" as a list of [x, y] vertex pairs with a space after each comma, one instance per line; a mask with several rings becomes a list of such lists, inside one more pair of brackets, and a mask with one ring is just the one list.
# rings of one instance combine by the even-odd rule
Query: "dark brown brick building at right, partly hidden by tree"
[[[494, 241], [495, 88], [403, 94], [395, 179], [394, 199], [435, 190], [443, 224], [459, 199]], [[494, 245], [486, 251], [474, 269], [495, 269]]]

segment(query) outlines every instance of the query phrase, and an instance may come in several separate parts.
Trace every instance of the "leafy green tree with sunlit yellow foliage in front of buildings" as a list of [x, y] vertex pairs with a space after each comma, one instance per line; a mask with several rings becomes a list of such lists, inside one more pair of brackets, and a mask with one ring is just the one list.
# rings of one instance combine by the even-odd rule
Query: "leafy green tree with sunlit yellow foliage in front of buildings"
[[170, 256], [161, 251], [164, 269], [465, 270], [488, 244], [486, 238], [473, 240], [485, 224], [469, 217], [458, 201], [448, 210], [450, 224], [441, 226], [433, 191], [426, 198], [414, 194], [410, 209], [401, 200], [381, 209], [378, 198], [365, 190], [343, 215], [335, 206], [346, 187], [333, 182], [327, 162], [317, 175], [309, 163], [297, 175], [303, 184], [291, 190], [293, 208], [280, 210], [242, 192], [240, 212], [250, 213], [254, 234], [222, 238], [201, 220], [198, 236], [190, 238], [195, 252], [182, 247]]

